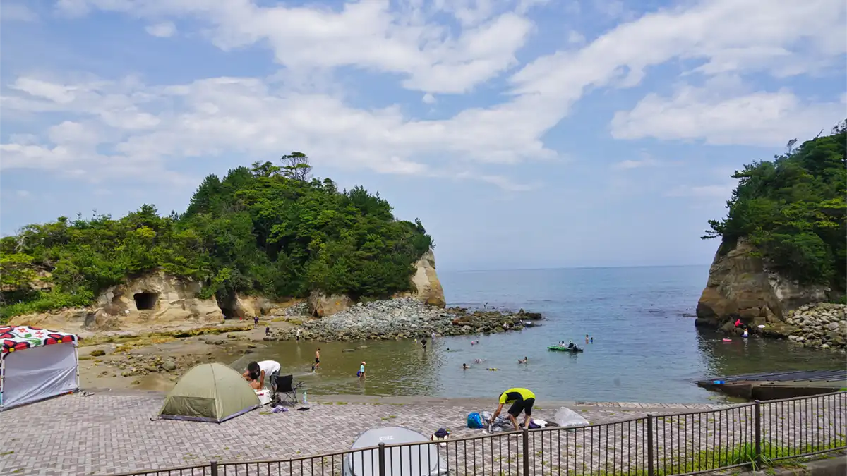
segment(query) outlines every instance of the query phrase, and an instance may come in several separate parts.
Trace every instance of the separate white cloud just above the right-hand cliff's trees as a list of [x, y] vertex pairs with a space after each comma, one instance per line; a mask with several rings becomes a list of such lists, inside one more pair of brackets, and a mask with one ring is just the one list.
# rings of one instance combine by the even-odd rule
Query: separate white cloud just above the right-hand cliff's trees
[[843, 118], [844, 102], [804, 102], [787, 90], [750, 93], [681, 87], [673, 97], [650, 93], [612, 119], [616, 139], [702, 139], [713, 145], [777, 146], [814, 136]]

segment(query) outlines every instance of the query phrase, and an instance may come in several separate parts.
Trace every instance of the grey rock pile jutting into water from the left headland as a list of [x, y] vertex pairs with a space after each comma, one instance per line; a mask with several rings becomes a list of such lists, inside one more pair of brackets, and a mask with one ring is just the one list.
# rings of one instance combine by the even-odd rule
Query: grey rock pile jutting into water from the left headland
[[[400, 298], [362, 303], [302, 324], [305, 340], [396, 340], [436, 335], [471, 335], [523, 329], [525, 321], [540, 319], [540, 313], [468, 311], [462, 307], [442, 309], [415, 299]], [[293, 340], [297, 329], [282, 329], [266, 340]]]

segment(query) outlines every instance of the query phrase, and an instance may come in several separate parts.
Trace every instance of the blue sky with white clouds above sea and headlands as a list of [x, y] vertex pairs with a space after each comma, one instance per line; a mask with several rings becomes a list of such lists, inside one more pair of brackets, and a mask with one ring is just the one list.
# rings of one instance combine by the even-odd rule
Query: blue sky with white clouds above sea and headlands
[[845, 63], [843, 0], [0, 0], [0, 234], [299, 151], [442, 269], [709, 263]]

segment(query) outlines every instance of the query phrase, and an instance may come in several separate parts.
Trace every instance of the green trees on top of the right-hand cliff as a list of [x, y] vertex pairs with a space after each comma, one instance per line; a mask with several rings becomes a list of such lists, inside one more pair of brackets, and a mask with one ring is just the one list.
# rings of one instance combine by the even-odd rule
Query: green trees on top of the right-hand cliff
[[722, 249], [745, 238], [780, 273], [847, 290], [847, 121], [795, 144], [735, 172], [727, 217], [703, 238], [721, 236]]

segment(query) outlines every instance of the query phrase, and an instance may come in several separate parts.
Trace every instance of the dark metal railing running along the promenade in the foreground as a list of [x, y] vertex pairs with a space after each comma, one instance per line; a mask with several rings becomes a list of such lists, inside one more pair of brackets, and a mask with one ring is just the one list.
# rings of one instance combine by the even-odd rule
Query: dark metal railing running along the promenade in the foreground
[[847, 450], [847, 391], [701, 412], [119, 476], [689, 476]]

